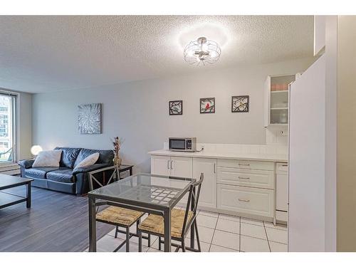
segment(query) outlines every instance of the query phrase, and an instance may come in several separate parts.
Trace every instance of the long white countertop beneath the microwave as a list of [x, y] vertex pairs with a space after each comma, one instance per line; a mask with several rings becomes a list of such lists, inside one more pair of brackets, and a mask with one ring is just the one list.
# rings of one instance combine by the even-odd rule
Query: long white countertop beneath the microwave
[[268, 162], [288, 162], [286, 154], [264, 154], [264, 153], [244, 153], [244, 152], [174, 152], [169, 150], [155, 150], [148, 152], [149, 155], [172, 156], [172, 157], [206, 157], [214, 159], [243, 159], [260, 160]]

